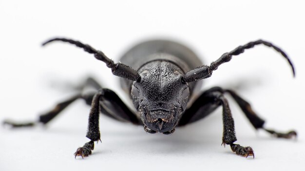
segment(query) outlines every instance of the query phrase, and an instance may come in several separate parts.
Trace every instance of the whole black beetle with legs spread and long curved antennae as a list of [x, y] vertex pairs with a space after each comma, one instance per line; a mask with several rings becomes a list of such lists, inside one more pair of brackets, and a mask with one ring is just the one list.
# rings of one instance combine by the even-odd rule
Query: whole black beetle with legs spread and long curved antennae
[[[93, 86], [96, 90], [94, 93], [77, 94], [58, 103], [51, 111], [40, 115], [38, 122], [46, 124], [77, 99], [83, 99], [88, 105], [91, 105], [86, 134], [90, 141], [76, 150], [75, 157], [81, 156], [83, 158], [90, 155], [94, 150], [94, 141], [100, 140], [100, 113], [115, 120], [143, 125], [147, 133], [159, 132], [169, 135], [175, 131], [175, 127], [201, 120], [222, 106], [222, 145], [230, 145], [231, 150], [237, 155], [253, 156], [254, 158], [251, 147], [234, 143], [237, 140], [234, 121], [225, 94], [229, 94], [237, 102], [255, 129], [263, 129], [276, 137], [292, 138], [297, 136], [295, 131], [280, 133], [265, 128], [265, 121], [252, 110], [247, 101], [233, 90], [218, 86], [212, 87], [195, 98], [195, 95], [199, 93], [203, 79], [209, 78], [214, 70], [229, 62], [232, 56], [239, 55], [260, 44], [281, 53], [295, 76], [293, 64], [286, 53], [270, 42], [264, 40], [249, 42], [224, 53], [210, 65], [204, 65], [188, 47], [169, 40], [150, 40], [139, 43], [127, 51], [118, 63], [114, 63], [102, 51], [97, 51], [90, 45], [73, 39], [53, 38], [42, 45], [54, 41], [76, 45], [84, 51], [94, 54], [97, 60], [103, 61], [108, 68], [111, 68], [114, 75], [120, 77], [121, 87], [130, 95], [135, 108], [135, 111], [131, 110], [114, 91], [102, 88], [93, 78], [89, 78], [84, 86]], [[17, 123], [6, 120], [4, 123], [12, 127], [24, 127], [35, 126], [37, 122]]]

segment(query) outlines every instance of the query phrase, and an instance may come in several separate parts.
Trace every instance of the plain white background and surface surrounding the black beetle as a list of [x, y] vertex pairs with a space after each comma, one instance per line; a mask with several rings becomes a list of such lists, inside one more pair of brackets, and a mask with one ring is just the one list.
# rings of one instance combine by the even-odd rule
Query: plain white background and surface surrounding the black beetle
[[203, 89], [235, 88], [267, 127], [299, 133], [297, 140], [286, 140], [256, 132], [228, 97], [237, 143], [253, 147], [254, 159], [220, 145], [221, 109], [171, 136], [147, 134], [142, 127], [102, 116], [102, 143], [95, 144], [90, 157], [75, 159], [76, 148], [88, 141], [89, 107], [77, 101], [46, 129], [0, 127], [0, 171], [304, 169], [304, 7], [301, 0], [0, 0], [0, 121], [36, 120], [74, 94], [67, 85], [88, 75], [128, 99], [118, 79], [93, 55], [64, 43], [40, 47], [54, 36], [81, 40], [114, 61], [134, 43], [167, 38], [188, 45], [207, 64], [263, 38], [287, 52], [295, 78], [279, 53], [261, 45], [219, 67]]

